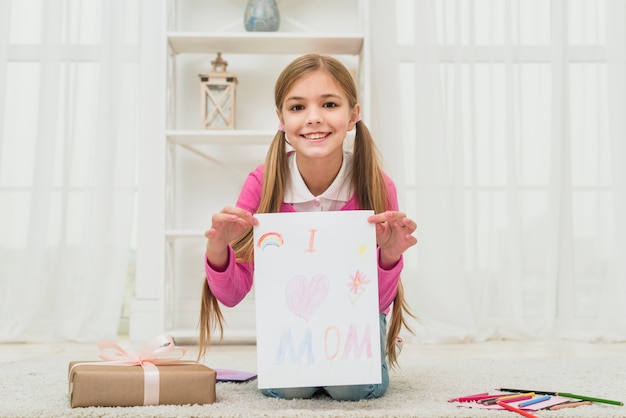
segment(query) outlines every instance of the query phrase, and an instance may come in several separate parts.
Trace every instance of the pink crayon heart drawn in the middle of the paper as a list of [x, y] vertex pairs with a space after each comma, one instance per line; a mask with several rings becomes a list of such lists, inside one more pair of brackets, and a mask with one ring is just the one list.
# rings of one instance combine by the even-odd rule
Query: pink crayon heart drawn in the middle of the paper
[[307, 280], [304, 276], [294, 276], [287, 283], [285, 299], [294, 315], [308, 321], [320, 307], [329, 289], [328, 277], [316, 274]]

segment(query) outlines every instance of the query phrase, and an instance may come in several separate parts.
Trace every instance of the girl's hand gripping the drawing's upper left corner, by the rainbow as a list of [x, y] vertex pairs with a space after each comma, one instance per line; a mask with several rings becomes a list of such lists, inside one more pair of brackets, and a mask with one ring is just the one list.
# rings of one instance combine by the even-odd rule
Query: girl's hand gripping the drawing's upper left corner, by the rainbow
[[228, 244], [247, 228], [258, 225], [259, 220], [247, 210], [226, 206], [211, 218], [211, 229], [204, 233], [207, 238], [206, 256], [215, 267], [228, 262]]

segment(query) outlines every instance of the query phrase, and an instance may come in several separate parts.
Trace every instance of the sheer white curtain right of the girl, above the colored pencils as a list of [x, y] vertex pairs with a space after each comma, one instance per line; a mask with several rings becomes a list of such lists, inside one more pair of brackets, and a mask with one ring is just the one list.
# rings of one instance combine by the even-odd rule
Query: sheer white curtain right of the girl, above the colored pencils
[[626, 340], [624, 3], [370, 5], [416, 339]]

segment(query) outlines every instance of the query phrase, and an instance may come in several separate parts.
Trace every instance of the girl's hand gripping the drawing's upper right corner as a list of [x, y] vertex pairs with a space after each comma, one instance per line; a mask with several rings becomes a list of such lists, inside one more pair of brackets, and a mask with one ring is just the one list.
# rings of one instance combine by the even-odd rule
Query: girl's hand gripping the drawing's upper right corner
[[412, 235], [417, 224], [403, 212], [388, 210], [370, 216], [367, 221], [376, 224], [376, 243], [380, 248], [382, 268], [394, 266], [407, 248], [417, 244], [417, 238]]

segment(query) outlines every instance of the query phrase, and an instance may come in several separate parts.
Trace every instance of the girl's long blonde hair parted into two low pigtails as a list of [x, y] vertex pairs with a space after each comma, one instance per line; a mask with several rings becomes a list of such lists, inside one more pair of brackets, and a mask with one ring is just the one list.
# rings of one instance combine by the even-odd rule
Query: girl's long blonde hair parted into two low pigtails
[[[346, 67], [337, 59], [318, 54], [303, 55], [289, 64], [278, 77], [274, 87], [276, 109], [280, 112], [283, 101], [292, 86], [299, 79], [314, 71], [322, 70], [331, 75], [337, 84], [344, 90], [350, 108], [354, 108], [357, 101], [357, 90], [354, 79]], [[356, 123], [356, 133], [353, 148], [353, 166], [351, 184], [354, 188], [358, 207], [371, 209], [381, 213], [391, 208], [387, 182], [379, 162], [379, 152], [372, 136], [362, 121]], [[282, 131], [276, 132], [269, 146], [265, 158], [263, 174], [263, 189], [261, 201], [256, 213], [280, 212], [285, 188], [289, 178], [287, 164], [287, 139]], [[231, 242], [237, 261], [250, 262], [254, 259], [252, 228]], [[413, 332], [406, 322], [404, 313], [415, 317], [409, 310], [404, 298], [402, 282], [398, 282], [398, 292], [393, 302], [391, 322], [387, 331], [386, 351], [391, 366], [397, 365], [396, 340], [404, 326]], [[202, 305], [200, 309], [200, 359], [206, 353], [211, 333], [219, 329], [220, 340], [224, 330], [224, 317], [219, 303], [208, 286], [206, 277], [203, 283]]]

